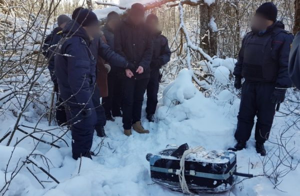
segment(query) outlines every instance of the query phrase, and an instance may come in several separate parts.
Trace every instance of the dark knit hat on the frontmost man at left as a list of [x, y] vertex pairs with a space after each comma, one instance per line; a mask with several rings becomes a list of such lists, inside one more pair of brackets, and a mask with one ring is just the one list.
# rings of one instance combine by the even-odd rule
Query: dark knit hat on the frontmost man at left
[[82, 26], [92, 26], [99, 24], [96, 14], [91, 10], [85, 8], [78, 11], [75, 20]]

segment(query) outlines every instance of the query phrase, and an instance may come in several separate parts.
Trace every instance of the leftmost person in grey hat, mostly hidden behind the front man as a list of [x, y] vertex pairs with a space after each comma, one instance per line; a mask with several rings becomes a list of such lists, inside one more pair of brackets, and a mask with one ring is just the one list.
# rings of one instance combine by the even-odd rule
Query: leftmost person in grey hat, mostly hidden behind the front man
[[48, 62], [48, 69], [50, 73], [51, 80], [54, 84], [54, 92], [56, 94], [56, 121], [57, 124], [64, 125], [66, 123], [66, 116], [64, 111], [64, 106], [61, 104], [61, 98], [59, 97], [58, 93], [58, 84], [56, 80], [56, 76], [54, 75], [54, 53], [57, 43], [62, 37], [62, 29], [69, 22], [71, 19], [64, 14], [61, 14], [57, 17], [57, 27], [55, 27], [52, 32], [45, 38], [43, 43], [43, 54], [47, 58]]

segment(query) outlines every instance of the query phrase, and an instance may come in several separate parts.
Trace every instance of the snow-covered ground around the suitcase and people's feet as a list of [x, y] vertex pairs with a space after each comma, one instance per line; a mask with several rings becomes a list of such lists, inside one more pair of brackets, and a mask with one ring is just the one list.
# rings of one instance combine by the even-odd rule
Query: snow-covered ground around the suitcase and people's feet
[[[160, 85], [155, 123], [148, 123], [144, 119], [143, 106], [143, 126], [150, 130], [150, 134], [139, 135], [133, 131], [132, 136], [126, 137], [122, 133], [121, 118], [116, 118], [115, 122], [107, 122], [105, 130], [108, 138], [101, 140], [94, 135], [92, 151], [96, 156], [93, 160], [82, 158], [81, 161], [74, 161], [71, 158], [71, 148], [61, 140], [55, 143], [60, 147], [58, 149], [44, 143], [37, 144], [36, 140], [27, 137], [14, 149], [2, 145], [6, 144], [5, 139], [0, 145], [0, 189], [5, 184], [5, 178], [9, 180], [15, 168], [19, 167], [18, 162], [34, 151], [33, 154], [46, 157], [49, 166], [46, 167], [45, 160], [39, 156], [32, 156], [30, 160], [46, 170], [50, 168], [47, 171], [60, 184], [57, 185], [38, 168], [28, 163], [26, 167], [39, 181], [43, 181], [41, 183], [45, 188], [43, 189], [26, 167], [23, 167], [11, 181], [9, 189], [5, 193], [2, 191], [4, 196], [182, 196], [181, 193], [153, 184], [145, 155], [158, 152], [168, 144], [188, 143], [191, 147], [203, 146], [210, 150], [232, 147], [235, 143], [233, 134], [239, 104], [238, 99], [232, 101], [232, 96], [223, 92], [219, 93], [216, 99], [205, 98], [191, 82], [190, 73], [183, 70], [170, 84]], [[293, 98], [290, 96], [289, 99]], [[289, 102], [284, 104], [280, 111], [288, 113], [287, 108], [295, 107], [294, 103]], [[270, 142], [266, 143], [268, 156], [264, 159], [255, 152], [253, 135], [247, 149], [237, 152], [237, 171], [258, 177], [244, 181], [239, 177], [231, 192], [199, 195], [297, 196], [300, 192], [300, 169], [295, 166], [300, 155], [297, 152], [300, 146], [300, 132], [296, 126], [283, 131], [288, 125], [298, 123], [298, 118], [298, 115], [276, 113]], [[8, 113], [0, 117], [0, 138], [14, 123], [15, 118]], [[20, 128], [29, 133], [32, 129], [27, 127], [34, 127], [36, 121], [28, 122], [22, 119], [20, 124]], [[49, 130], [56, 136], [62, 133], [56, 126], [48, 127], [46, 119], [42, 119], [37, 128]], [[285, 148], [278, 148], [276, 144], [280, 142], [277, 142], [280, 135], [282, 146]], [[12, 144], [23, 136], [23, 133], [16, 132]], [[35, 133], [34, 136], [40, 137], [41, 134]], [[43, 139], [52, 141], [52, 137], [44, 135]], [[63, 139], [70, 145], [69, 132]], [[37, 148], [34, 149], [36, 144]], [[11, 156], [12, 151], [14, 152]], [[286, 155], [287, 152], [292, 158]], [[260, 176], [264, 172], [269, 178]], [[274, 189], [276, 177], [279, 177], [276, 182], [279, 185]]]

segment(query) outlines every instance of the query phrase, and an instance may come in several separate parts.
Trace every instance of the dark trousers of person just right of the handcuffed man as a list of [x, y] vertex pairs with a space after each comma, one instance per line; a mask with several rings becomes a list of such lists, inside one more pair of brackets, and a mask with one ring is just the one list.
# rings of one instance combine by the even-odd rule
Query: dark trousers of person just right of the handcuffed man
[[151, 70], [150, 79], [147, 85], [147, 106], [146, 113], [154, 114], [157, 106], [157, 93], [159, 89], [159, 69]]

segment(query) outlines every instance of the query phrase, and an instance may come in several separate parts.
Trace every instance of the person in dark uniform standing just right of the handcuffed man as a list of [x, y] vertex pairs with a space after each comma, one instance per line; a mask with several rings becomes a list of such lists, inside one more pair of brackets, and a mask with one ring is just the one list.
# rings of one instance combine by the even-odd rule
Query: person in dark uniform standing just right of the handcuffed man
[[157, 93], [159, 88], [159, 69], [165, 65], [171, 56], [168, 41], [158, 30], [158, 17], [155, 14], [149, 14], [146, 18], [146, 24], [149, 26], [153, 37], [153, 54], [150, 63], [150, 79], [147, 85], [147, 106], [146, 113], [149, 122], [154, 121], [154, 113], [157, 106]]

